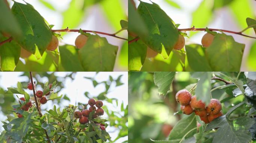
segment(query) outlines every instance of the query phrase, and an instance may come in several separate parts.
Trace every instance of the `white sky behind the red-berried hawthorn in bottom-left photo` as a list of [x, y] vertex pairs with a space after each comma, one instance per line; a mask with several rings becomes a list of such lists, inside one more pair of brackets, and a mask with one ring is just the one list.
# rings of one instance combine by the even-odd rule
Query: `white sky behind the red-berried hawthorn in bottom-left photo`
[[[28, 82], [28, 78], [26, 76], [20, 77], [22, 72], [0, 72], [0, 87], [2, 87], [4, 90], [7, 90], [8, 87], [17, 87], [17, 82]], [[55, 72], [55, 76], [57, 77], [63, 77], [67, 73], [65, 72]], [[74, 105], [77, 101], [82, 103], [87, 103], [88, 98], [85, 97], [84, 93], [87, 91], [90, 93], [90, 95], [98, 95], [101, 92], [105, 91], [105, 86], [103, 84], [96, 86], [92, 85], [91, 80], [85, 79], [84, 77], [95, 77], [95, 80], [97, 82], [105, 81], [109, 79], [109, 75], [113, 77], [113, 79], [116, 79], [119, 75], [123, 75], [121, 78], [121, 82], [124, 83], [124, 85], [115, 87], [115, 84], [110, 87], [109, 91], [110, 93], [107, 94], [108, 98], [117, 98], [119, 106], [116, 107], [116, 105], [109, 104], [107, 102], [103, 101], [103, 104], [108, 107], [110, 111], [120, 111], [120, 105], [122, 102], [124, 102], [124, 107], [128, 105], [128, 73], [127, 72], [100, 72], [95, 76], [95, 72], [78, 72], [76, 73], [74, 80], [71, 81], [69, 77], [66, 78], [65, 82], [62, 84], [64, 85], [64, 88], [61, 89], [61, 91], [58, 93], [58, 96], [61, 94], [67, 95], [68, 98], [70, 98], [70, 102], [64, 100], [64, 102], [61, 103], [61, 109], [63, 109], [63, 106], [67, 106], [68, 104]], [[40, 82], [48, 82], [47, 78], [42, 78]], [[25, 89], [26, 92], [33, 94], [31, 90]], [[18, 95], [21, 96], [21, 95]], [[15, 96], [16, 97], [16, 96]], [[18, 103], [18, 99], [16, 99]], [[45, 107], [47, 110], [53, 108], [53, 102], [49, 101], [46, 104], [42, 105], [42, 112], [45, 113]], [[57, 106], [58, 108], [58, 106]], [[106, 114], [103, 115], [103, 118], [106, 117]], [[6, 116], [4, 116], [1, 113], [0, 110], [0, 121], [5, 121], [7, 119]], [[3, 131], [2, 123], [0, 122], [0, 131]], [[109, 132], [110, 137], [112, 139], [115, 139], [118, 136], [118, 131], [116, 131], [116, 128], [107, 127], [107, 132]], [[123, 137], [116, 141], [116, 143], [121, 143], [125, 140], [128, 140], [128, 137]]]

